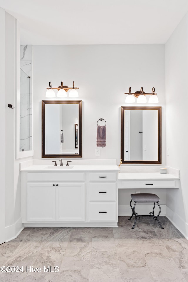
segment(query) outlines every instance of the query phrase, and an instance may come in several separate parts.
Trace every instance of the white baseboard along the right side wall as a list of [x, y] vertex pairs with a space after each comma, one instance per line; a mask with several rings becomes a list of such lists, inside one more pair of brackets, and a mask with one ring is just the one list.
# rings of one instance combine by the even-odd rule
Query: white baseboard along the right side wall
[[188, 240], [188, 224], [177, 213], [173, 212], [166, 206], [166, 217], [170, 222], [182, 233], [182, 235]]

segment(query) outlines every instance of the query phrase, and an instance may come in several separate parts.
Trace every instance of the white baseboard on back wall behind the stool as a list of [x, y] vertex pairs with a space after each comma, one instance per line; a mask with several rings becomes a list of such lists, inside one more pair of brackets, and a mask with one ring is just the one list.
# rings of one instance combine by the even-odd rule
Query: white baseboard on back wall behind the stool
[[[160, 205], [161, 207], [161, 213], [160, 215], [166, 215], [166, 205]], [[138, 214], [148, 214], [150, 212], [152, 212], [153, 210], [153, 205], [137, 205], [136, 208], [135, 208], [135, 211], [138, 213]], [[155, 206], [155, 214], [157, 215], [158, 212], [159, 212], [159, 207], [156, 205]], [[131, 216], [132, 214], [132, 211], [131, 211], [131, 208], [130, 208], [130, 205], [120, 205], [118, 206], [118, 216]]]

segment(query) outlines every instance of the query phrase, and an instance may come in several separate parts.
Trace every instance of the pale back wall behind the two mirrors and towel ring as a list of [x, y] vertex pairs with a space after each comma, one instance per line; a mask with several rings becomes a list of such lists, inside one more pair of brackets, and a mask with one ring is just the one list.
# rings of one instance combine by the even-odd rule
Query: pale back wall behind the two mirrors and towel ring
[[[151, 92], [155, 87], [162, 106], [162, 163], [165, 164], [164, 62], [163, 44], [33, 46], [34, 158], [41, 158], [41, 100], [46, 100], [49, 81], [52, 87], [58, 87], [61, 81], [71, 87], [74, 80], [75, 87], [79, 87], [77, 100], [83, 100], [84, 159], [113, 158], [119, 164], [120, 107], [126, 105], [124, 93], [130, 86], [134, 92], [141, 87]], [[106, 120], [106, 147], [96, 157], [100, 117]]]

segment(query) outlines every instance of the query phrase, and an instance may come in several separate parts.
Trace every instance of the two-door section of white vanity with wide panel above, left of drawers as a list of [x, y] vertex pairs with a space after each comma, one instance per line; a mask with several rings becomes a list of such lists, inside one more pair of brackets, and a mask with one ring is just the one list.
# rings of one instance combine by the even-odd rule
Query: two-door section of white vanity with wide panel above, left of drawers
[[23, 222], [85, 221], [85, 172], [22, 172]]

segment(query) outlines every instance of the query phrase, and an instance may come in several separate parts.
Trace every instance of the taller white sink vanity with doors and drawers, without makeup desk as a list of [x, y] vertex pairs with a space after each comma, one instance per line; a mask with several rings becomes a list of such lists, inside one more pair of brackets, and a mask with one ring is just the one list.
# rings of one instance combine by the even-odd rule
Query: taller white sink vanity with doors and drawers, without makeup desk
[[68, 167], [50, 160], [20, 164], [24, 226], [117, 226], [116, 160], [85, 161]]

